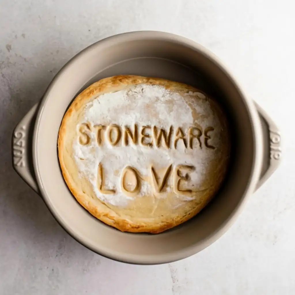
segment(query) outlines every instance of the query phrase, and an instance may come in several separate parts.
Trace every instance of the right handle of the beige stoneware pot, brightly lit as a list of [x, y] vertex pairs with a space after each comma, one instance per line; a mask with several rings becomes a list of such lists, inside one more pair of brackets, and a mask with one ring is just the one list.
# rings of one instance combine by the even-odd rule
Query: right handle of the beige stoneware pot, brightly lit
[[255, 102], [263, 131], [263, 166], [256, 190], [273, 174], [281, 163], [281, 134], [269, 115]]

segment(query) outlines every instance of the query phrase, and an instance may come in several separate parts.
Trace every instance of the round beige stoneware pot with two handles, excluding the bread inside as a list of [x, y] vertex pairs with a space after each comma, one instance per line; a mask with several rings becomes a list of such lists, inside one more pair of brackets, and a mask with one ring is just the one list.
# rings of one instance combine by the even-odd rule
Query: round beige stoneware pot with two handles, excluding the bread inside
[[[207, 91], [223, 105], [232, 127], [231, 165], [218, 194], [196, 217], [157, 235], [120, 232], [100, 222], [78, 204], [60, 171], [58, 130], [69, 104], [91, 83], [120, 74], [161, 77]], [[229, 228], [247, 197], [277, 168], [281, 137], [212, 53], [177, 35], [142, 31], [106, 38], [72, 58], [17, 124], [12, 157], [17, 173], [81, 244], [115, 260], [158, 264], [201, 251]]]

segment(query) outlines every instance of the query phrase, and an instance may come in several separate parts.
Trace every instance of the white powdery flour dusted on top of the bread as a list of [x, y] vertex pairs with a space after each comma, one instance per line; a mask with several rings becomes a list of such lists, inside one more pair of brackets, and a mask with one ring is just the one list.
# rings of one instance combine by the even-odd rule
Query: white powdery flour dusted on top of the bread
[[[196, 97], [199, 99], [196, 99]], [[199, 116], [197, 122], [194, 122], [193, 111], [198, 114], [206, 114], [206, 117]], [[209, 115], [208, 115], [209, 114]], [[96, 196], [102, 201], [116, 205], [126, 206], [130, 196], [126, 196], [121, 190], [121, 174], [126, 166], [136, 168], [146, 180], [141, 181], [141, 189], [138, 197], [153, 194], [153, 184], [151, 180], [151, 165], [156, 170], [167, 169], [169, 165], [193, 165], [195, 171], [190, 172], [191, 182], [197, 188], [198, 183], [204, 177], [213, 158], [214, 150], [200, 149], [194, 142], [194, 148], [185, 148], [183, 141], [178, 140], [177, 148], [157, 148], [155, 145], [150, 148], [140, 144], [141, 126], [150, 125], [169, 130], [170, 126], [176, 129], [181, 127], [187, 134], [191, 126], [217, 126], [216, 135], [220, 134], [216, 116], [213, 115], [209, 102], [205, 96], [199, 92], [189, 93], [186, 99], [178, 93], [166, 90], [163, 86], [139, 84], [131, 86], [121, 91], [102, 94], [90, 103], [86, 104], [84, 109], [83, 122], [90, 122], [92, 126], [103, 124], [117, 124], [124, 128], [129, 126], [131, 130], [134, 124], [138, 124], [139, 143], [125, 146], [122, 138], [117, 146], [112, 146], [107, 140], [99, 147], [96, 142], [95, 132], [91, 132], [91, 142], [89, 145], [81, 145], [78, 138], [74, 140], [73, 150], [76, 164], [81, 175], [87, 177]], [[77, 126], [78, 128], [78, 126]], [[151, 130], [150, 130], [151, 131]], [[152, 132], [148, 132], [151, 134]], [[106, 132], [103, 133], [106, 138]], [[171, 136], [171, 147], [173, 146], [173, 135]], [[129, 138], [130, 139], [130, 138]], [[211, 143], [218, 145], [219, 136], [212, 136]], [[196, 140], [195, 140], [196, 141]], [[163, 140], [162, 140], [163, 142]], [[82, 160], [83, 159], [83, 160]], [[115, 194], [101, 194], [97, 188], [97, 168], [99, 163], [103, 165], [104, 186], [108, 189], [115, 189]], [[173, 171], [168, 178], [168, 189], [161, 197], [173, 189]], [[184, 199], [188, 198], [184, 196]], [[189, 198], [188, 198], [189, 199]]]

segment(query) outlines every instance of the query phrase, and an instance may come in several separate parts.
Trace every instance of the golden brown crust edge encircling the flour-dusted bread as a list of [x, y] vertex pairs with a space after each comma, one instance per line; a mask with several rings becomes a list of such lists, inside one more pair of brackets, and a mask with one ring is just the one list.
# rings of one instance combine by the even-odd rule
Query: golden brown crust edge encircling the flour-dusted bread
[[215, 163], [214, 167], [218, 170], [218, 173], [214, 175], [215, 178], [218, 178], [216, 179], [217, 185], [214, 187], [210, 186], [210, 189], [208, 189], [201, 197], [201, 201], [198, 201], [197, 203], [192, 203], [192, 207], [186, 212], [183, 212], [183, 215], [174, 216], [172, 219], [166, 218], [162, 220], [141, 220], [140, 218], [138, 218], [130, 220], [127, 215], [124, 216], [124, 214], [117, 214], [112, 206], [109, 206], [108, 204], [105, 204], [104, 202], [96, 198], [94, 192], [89, 189], [89, 186], [87, 186], [87, 184], [85, 184], [87, 180], [82, 180], [82, 184], [80, 182], [73, 181], [74, 178], [77, 178], [77, 168], [75, 167], [74, 161], [72, 159], [73, 156], [71, 154], [72, 152], [70, 150], [70, 147], [72, 143], [71, 140], [73, 140], [74, 137], [73, 132], [76, 132], [76, 130], [72, 131], [71, 133], [69, 131], [69, 126], [77, 123], [79, 112], [81, 112], [83, 106], [85, 106], [85, 104], [91, 99], [94, 99], [106, 92], [114, 92], [124, 89], [124, 87], [128, 85], [136, 85], [141, 83], [150, 85], [161, 85], [164, 86], [166, 89], [179, 93], [188, 93], [189, 91], [201, 92], [192, 86], [160, 78], [122, 75], [101, 79], [82, 91], [76, 97], [76, 99], [74, 99], [73, 103], [70, 105], [67, 112], [65, 113], [58, 133], [58, 157], [63, 177], [71, 193], [75, 196], [77, 201], [94, 217], [121, 231], [159, 233], [187, 221], [198, 212], [200, 212], [212, 199], [214, 193], [219, 188], [220, 183], [222, 182], [222, 179], [224, 178], [224, 175], [226, 173], [229, 155], [229, 139], [226, 120], [222, 115], [222, 112], [220, 112], [219, 107], [214, 103], [214, 101], [211, 101], [210, 104], [212, 104], [212, 108], [214, 108], [217, 115], [220, 117], [223, 128], [225, 129], [225, 137], [223, 139], [224, 155], [219, 163]]

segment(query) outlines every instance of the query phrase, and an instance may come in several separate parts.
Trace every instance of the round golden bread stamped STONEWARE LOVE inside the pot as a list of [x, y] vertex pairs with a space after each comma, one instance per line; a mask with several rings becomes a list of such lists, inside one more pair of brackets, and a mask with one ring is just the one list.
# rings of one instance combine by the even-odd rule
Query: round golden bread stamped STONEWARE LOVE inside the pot
[[82, 91], [58, 134], [68, 188], [121, 231], [159, 233], [212, 199], [229, 160], [226, 117], [192, 86], [114, 76]]

